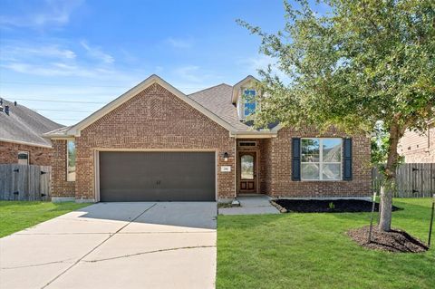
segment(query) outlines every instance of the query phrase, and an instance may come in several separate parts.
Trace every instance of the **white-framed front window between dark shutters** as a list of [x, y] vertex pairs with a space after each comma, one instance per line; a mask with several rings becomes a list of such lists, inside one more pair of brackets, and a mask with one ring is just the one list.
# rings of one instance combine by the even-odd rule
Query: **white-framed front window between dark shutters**
[[342, 179], [342, 139], [302, 139], [301, 178], [303, 180]]

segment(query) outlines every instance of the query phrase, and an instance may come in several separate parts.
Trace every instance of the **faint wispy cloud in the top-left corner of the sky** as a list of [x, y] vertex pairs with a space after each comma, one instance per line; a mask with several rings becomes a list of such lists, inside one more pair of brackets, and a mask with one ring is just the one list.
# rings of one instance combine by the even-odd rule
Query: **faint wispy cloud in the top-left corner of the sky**
[[82, 3], [82, 0], [45, 0], [32, 11], [19, 11], [19, 15], [0, 14], [0, 26], [34, 29], [62, 26], [70, 22], [71, 14]]

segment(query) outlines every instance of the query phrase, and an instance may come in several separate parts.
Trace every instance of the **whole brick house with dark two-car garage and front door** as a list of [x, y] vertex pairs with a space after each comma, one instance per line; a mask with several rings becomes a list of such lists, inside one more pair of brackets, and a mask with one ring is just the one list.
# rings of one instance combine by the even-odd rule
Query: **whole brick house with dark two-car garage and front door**
[[[152, 75], [53, 141], [53, 200], [367, 197], [370, 140], [337, 130], [253, 130], [256, 79], [185, 95]], [[250, 97], [246, 97], [246, 95]]]

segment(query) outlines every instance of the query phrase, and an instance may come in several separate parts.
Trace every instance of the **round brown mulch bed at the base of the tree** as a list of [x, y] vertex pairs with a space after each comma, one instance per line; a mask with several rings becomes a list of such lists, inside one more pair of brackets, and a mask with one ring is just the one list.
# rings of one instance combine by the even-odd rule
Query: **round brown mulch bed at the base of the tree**
[[429, 250], [423, 242], [404, 231], [392, 229], [390, 232], [382, 232], [377, 226], [373, 226], [372, 242], [369, 243], [369, 227], [352, 229], [347, 232], [347, 235], [360, 246], [374, 250], [394, 253], [420, 253]]

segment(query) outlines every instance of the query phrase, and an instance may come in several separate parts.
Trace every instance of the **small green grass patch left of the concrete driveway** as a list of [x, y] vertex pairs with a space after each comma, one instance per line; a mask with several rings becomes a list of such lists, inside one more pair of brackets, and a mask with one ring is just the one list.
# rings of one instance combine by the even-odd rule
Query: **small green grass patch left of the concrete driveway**
[[0, 237], [86, 206], [89, 204], [0, 201]]

